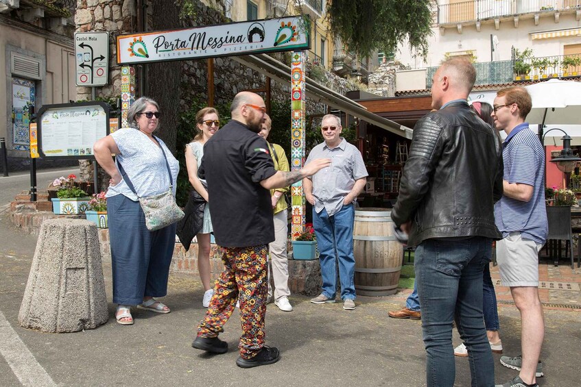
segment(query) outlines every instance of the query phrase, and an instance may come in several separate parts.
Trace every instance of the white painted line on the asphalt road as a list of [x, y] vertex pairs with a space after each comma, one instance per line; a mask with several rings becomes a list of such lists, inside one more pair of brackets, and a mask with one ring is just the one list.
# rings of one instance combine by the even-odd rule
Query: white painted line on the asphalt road
[[56, 386], [0, 312], [0, 354], [23, 386]]

